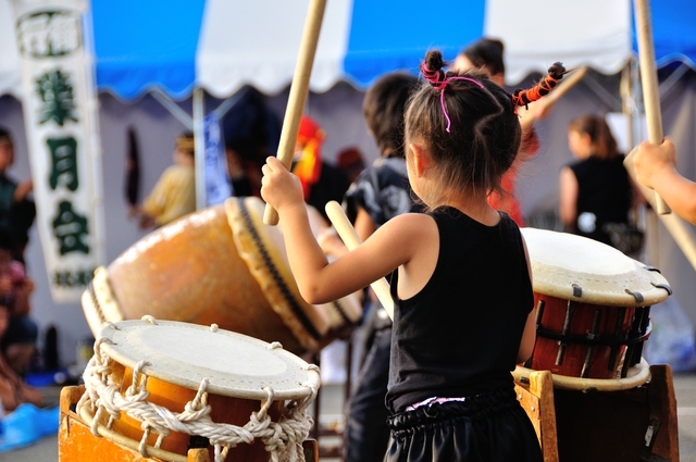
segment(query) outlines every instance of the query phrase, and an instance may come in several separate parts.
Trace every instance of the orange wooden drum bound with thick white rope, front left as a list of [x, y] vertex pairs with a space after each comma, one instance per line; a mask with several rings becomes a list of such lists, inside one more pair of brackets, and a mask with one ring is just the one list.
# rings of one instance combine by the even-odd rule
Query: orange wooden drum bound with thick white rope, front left
[[279, 344], [146, 316], [105, 323], [77, 414], [96, 436], [144, 458], [304, 460], [319, 369]]

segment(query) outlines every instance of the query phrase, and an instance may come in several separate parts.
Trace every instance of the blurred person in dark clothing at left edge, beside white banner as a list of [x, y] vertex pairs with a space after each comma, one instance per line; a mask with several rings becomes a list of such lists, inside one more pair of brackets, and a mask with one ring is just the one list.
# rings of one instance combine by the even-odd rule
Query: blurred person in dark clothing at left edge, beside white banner
[[10, 132], [0, 127], [0, 228], [13, 241], [12, 257], [24, 262], [24, 250], [29, 241], [29, 228], [36, 217], [36, 207], [29, 195], [32, 179], [17, 183], [8, 174], [14, 163], [14, 142]]

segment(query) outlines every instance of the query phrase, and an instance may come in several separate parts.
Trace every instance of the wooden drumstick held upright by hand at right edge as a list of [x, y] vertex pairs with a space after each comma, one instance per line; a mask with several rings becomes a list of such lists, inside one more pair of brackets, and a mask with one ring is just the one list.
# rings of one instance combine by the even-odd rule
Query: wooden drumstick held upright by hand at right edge
[[[641, 64], [641, 84], [643, 86], [643, 102], [648, 124], [648, 140], [654, 145], [663, 141], [662, 115], [660, 111], [660, 92], [657, 84], [657, 68], [655, 65], [655, 48], [652, 43], [652, 27], [650, 24], [650, 9], [648, 0], [635, 0], [635, 22], [638, 34], [638, 62]], [[632, 163], [633, 157], [627, 155], [624, 163]], [[664, 200], [655, 192], [657, 212], [666, 215], [672, 212]]]

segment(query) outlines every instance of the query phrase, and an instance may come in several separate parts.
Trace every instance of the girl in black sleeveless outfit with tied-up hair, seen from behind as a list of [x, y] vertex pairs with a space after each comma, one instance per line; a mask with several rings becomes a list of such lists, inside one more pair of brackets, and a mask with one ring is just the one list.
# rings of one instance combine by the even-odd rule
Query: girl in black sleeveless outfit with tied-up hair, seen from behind
[[[439, 51], [405, 115], [409, 183], [427, 213], [403, 213], [328, 262], [301, 185], [275, 158], [261, 196], [283, 223], [310, 303], [389, 275], [395, 299], [386, 405], [388, 462], [542, 461], [510, 372], [532, 354], [535, 310], [524, 239], [486, 198], [520, 147], [512, 96], [485, 74], [445, 72]], [[500, 290], [505, 287], [505, 290]]]

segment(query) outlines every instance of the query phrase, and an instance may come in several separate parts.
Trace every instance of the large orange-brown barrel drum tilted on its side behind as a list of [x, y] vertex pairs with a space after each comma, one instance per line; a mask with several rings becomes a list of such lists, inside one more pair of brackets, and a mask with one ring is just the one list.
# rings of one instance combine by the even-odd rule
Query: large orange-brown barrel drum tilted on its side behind
[[[95, 335], [104, 322], [160, 320], [210, 325], [279, 341], [296, 354], [319, 351], [361, 316], [357, 297], [313, 305], [299, 294], [281, 226], [264, 203], [231, 198], [165, 225], [95, 272], [82, 298]], [[310, 213], [316, 233], [327, 224]]]

